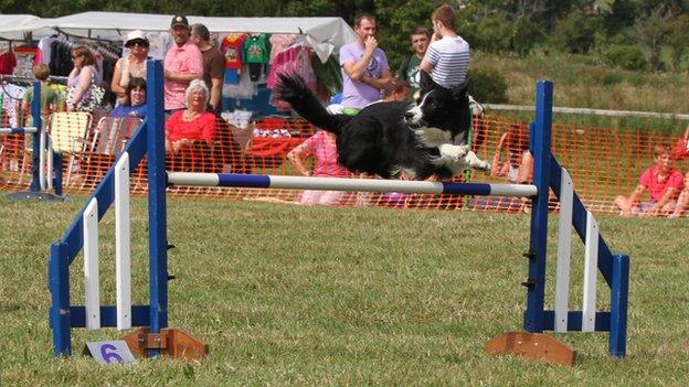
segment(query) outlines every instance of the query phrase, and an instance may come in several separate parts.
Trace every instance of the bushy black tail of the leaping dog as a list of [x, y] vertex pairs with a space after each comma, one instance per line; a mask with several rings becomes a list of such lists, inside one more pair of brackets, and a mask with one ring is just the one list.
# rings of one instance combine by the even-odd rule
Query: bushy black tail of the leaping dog
[[282, 73], [277, 77], [277, 85], [273, 89], [275, 98], [289, 104], [299, 116], [316, 127], [339, 135], [342, 123], [351, 119], [350, 116], [328, 112], [300, 76]]

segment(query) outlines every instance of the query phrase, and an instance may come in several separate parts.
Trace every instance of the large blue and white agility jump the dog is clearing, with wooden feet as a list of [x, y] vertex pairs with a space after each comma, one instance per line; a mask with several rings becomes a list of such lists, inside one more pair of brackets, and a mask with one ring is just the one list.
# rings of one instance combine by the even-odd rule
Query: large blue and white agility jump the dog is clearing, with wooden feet
[[[126, 337], [135, 353], [157, 356], [202, 357], [208, 346], [183, 331], [168, 329], [168, 270], [166, 187], [168, 185], [242, 186], [261, 189], [343, 190], [405, 193], [447, 193], [523, 196], [532, 201], [527, 308], [523, 331], [510, 332], [486, 344], [489, 353], [512, 353], [531, 359], [573, 364], [574, 352], [548, 335], [555, 332], [610, 332], [608, 351], [614, 357], [626, 354], [629, 258], [613, 255], [598, 235], [594, 216], [573, 191], [566, 170], [550, 152], [552, 123], [551, 82], [537, 85], [536, 120], [531, 125], [529, 149], [534, 157], [533, 184], [439, 183], [331, 178], [297, 178], [215, 173], [167, 173], [162, 116], [162, 65], [149, 61], [148, 100], [153, 107], [116, 165], [108, 171], [87, 200], [62, 239], [51, 246], [49, 286], [52, 293], [50, 324], [55, 355], [71, 355], [72, 327], [144, 326]], [[144, 157], [148, 159], [149, 211], [149, 304], [130, 305], [128, 181]], [[548, 200], [552, 189], [560, 200], [558, 267], [554, 310], [544, 310]], [[97, 221], [113, 202], [116, 205], [116, 257], [118, 305], [100, 305], [97, 283]], [[572, 226], [585, 244], [584, 298], [581, 311], [569, 308]], [[70, 265], [84, 248], [86, 305], [70, 303]], [[95, 251], [95, 252], [94, 252]], [[94, 269], [95, 265], [95, 269]], [[611, 288], [611, 310], [596, 311], [596, 273]], [[120, 278], [121, 277], [121, 278]], [[121, 289], [120, 288], [121, 284]], [[121, 292], [121, 297], [120, 297]]]

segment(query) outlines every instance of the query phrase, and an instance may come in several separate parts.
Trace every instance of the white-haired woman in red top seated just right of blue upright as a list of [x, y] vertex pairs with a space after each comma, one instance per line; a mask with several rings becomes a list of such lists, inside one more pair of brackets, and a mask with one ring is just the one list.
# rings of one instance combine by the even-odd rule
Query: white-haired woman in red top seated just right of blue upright
[[201, 79], [193, 79], [187, 88], [186, 109], [178, 110], [166, 122], [166, 151], [178, 153], [195, 141], [211, 147], [215, 137], [215, 115], [206, 111], [209, 89]]

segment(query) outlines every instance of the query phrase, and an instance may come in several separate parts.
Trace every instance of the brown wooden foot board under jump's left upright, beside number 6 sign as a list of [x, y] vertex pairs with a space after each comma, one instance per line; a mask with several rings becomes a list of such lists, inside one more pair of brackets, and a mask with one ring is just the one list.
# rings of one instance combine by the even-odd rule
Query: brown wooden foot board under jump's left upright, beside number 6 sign
[[163, 356], [193, 361], [204, 358], [209, 353], [208, 344], [182, 330], [169, 327], [158, 334], [140, 327], [123, 340], [136, 356], [148, 356], [148, 350], [160, 350]]

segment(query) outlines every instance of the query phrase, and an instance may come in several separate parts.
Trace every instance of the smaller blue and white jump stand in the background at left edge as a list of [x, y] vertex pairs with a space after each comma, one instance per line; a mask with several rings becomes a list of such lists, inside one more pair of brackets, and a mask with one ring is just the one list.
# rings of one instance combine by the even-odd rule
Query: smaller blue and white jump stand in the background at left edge
[[[9, 200], [41, 200], [63, 202], [62, 194], [62, 153], [53, 152], [53, 143], [47, 136], [41, 118], [41, 84], [33, 83], [34, 98], [31, 103], [33, 127], [0, 128], [2, 135], [33, 135], [32, 137], [32, 175], [29, 191], [7, 195]], [[53, 190], [54, 193], [49, 191]]]

